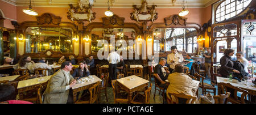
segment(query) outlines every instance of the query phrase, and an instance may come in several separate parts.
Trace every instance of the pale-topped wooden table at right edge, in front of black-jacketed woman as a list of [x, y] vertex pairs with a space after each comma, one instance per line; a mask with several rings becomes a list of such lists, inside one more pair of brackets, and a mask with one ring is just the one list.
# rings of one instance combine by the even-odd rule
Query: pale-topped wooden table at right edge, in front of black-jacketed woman
[[[217, 78], [217, 83], [230, 83], [232, 84], [232, 86], [236, 86], [236, 87], [242, 88], [243, 90], [248, 91], [250, 95], [256, 95], [256, 85], [253, 84], [252, 82], [248, 81], [246, 86], [245, 81], [234, 83], [234, 82], [228, 82], [229, 78], [223, 78], [219, 76], [216, 76], [216, 78]], [[221, 87], [218, 86], [218, 95], [220, 94], [221, 94]]]

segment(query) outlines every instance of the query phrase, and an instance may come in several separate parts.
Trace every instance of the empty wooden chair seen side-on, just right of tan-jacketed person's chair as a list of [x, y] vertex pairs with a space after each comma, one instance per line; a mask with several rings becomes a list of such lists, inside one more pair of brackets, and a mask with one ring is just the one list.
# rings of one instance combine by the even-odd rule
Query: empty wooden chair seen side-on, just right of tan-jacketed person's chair
[[211, 91], [207, 91], [207, 90], [213, 90], [213, 94], [216, 95], [216, 88], [214, 86], [212, 86], [211, 84], [207, 84], [204, 83], [204, 76], [195, 73], [195, 77], [197, 78], [198, 81], [200, 81], [199, 87], [202, 88], [202, 93], [205, 95], [207, 92], [211, 92]]

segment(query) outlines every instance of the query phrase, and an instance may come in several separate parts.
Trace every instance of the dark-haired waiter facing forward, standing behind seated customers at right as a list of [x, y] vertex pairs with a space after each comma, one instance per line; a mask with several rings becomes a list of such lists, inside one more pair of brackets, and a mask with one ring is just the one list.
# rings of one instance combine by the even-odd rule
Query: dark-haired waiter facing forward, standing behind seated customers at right
[[172, 53], [167, 56], [167, 63], [170, 65], [170, 73], [175, 70], [175, 65], [181, 64], [184, 61], [184, 58], [181, 53], [177, 53], [177, 46], [171, 47]]

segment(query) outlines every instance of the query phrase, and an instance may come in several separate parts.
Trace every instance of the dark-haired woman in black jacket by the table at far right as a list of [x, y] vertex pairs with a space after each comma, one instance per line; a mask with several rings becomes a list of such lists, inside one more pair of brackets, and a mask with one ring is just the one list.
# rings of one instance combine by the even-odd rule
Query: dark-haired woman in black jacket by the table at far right
[[226, 49], [224, 51], [224, 56], [221, 57], [220, 59], [220, 74], [224, 78], [228, 78], [230, 73], [240, 73], [238, 70], [233, 69], [234, 63], [231, 60], [231, 57], [234, 54], [233, 49]]

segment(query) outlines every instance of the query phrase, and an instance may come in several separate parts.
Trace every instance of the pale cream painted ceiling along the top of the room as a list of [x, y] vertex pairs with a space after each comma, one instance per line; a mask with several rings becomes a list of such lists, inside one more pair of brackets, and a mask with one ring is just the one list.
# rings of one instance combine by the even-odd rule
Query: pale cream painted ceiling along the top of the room
[[[28, 6], [29, 0], [2, 0], [13, 2], [16, 6]], [[88, 4], [88, 0], [80, 0]], [[106, 8], [108, 0], [94, 0], [93, 7]], [[131, 8], [133, 5], [141, 6], [143, 0], [110, 0], [110, 8]], [[177, 8], [183, 7], [183, 0], [176, 0], [173, 5], [172, 0], [147, 0], [148, 5], [157, 5], [158, 8]], [[207, 7], [219, 0], [185, 0], [185, 7]], [[68, 4], [77, 5], [77, 0], [31, 0], [32, 7], [68, 7]]]

